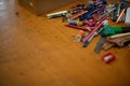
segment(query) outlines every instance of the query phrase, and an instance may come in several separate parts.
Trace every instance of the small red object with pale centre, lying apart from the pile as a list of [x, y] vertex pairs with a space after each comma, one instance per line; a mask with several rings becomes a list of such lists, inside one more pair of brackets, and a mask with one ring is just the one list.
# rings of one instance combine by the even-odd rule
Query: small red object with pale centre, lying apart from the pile
[[105, 54], [103, 57], [102, 57], [102, 60], [105, 62], [105, 63], [109, 63], [112, 62], [113, 60], [115, 60], [116, 57], [114, 54], [112, 53], [108, 53], [108, 54]]

